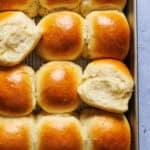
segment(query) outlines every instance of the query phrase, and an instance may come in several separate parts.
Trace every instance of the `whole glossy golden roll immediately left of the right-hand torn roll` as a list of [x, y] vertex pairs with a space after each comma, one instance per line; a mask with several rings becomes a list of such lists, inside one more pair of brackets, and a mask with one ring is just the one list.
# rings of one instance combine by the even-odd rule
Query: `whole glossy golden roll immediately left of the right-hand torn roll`
[[77, 94], [81, 67], [71, 62], [50, 62], [37, 72], [37, 101], [49, 113], [75, 110], [80, 103]]

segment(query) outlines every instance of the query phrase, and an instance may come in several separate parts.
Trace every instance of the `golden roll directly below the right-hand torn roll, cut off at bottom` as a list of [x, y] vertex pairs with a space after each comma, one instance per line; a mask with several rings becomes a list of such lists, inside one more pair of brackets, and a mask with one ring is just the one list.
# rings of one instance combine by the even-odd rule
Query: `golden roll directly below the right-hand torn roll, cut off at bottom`
[[86, 150], [130, 150], [131, 133], [124, 115], [86, 110], [81, 115]]

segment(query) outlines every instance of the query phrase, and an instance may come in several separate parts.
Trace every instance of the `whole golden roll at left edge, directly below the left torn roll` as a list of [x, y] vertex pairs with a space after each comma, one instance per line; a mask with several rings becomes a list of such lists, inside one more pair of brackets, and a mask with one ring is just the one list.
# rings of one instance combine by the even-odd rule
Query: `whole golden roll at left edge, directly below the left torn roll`
[[23, 116], [35, 107], [35, 74], [24, 65], [0, 69], [0, 114]]

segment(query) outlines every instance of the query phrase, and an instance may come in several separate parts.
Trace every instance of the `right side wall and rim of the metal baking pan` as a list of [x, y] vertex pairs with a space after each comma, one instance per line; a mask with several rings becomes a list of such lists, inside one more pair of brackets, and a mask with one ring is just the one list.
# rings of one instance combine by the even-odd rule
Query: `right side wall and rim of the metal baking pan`
[[139, 150], [139, 101], [138, 101], [138, 51], [137, 51], [137, 0], [128, 0], [125, 10], [131, 28], [131, 47], [127, 57], [127, 65], [134, 76], [135, 90], [127, 113], [131, 131], [131, 150]]

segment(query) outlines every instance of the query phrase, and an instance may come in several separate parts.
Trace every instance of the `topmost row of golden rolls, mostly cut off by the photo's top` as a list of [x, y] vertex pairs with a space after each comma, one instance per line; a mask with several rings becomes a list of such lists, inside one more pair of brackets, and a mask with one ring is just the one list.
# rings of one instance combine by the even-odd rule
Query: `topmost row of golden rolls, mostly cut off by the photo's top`
[[57, 10], [72, 10], [87, 15], [93, 10], [122, 11], [127, 0], [1, 0], [0, 11], [23, 11], [30, 17], [47, 15]]

